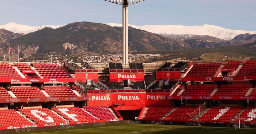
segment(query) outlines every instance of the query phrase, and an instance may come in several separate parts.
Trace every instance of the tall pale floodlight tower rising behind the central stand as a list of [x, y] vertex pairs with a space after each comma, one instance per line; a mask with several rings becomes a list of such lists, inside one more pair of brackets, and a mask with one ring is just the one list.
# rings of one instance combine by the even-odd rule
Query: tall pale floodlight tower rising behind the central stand
[[123, 63], [128, 64], [128, 6], [146, 0], [104, 0], [122, 5], [123, 8]]

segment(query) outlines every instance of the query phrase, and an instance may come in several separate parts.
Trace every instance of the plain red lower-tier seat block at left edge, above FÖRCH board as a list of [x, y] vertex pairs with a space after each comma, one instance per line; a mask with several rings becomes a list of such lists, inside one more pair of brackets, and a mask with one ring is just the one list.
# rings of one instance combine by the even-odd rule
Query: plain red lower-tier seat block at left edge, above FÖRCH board
[[9, 127], [20, 125], [32, 125], [32, 123], [13, 109], [0, 110], [0, 129], [1, 126]]

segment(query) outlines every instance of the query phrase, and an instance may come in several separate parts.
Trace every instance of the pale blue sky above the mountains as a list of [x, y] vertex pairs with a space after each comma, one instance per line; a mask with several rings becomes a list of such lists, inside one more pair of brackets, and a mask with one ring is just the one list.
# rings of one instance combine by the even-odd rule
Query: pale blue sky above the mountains
[[[256, 31], [255, 0], [147, 0], [129, 7], [133, 25], [216, 25]], [[104, 0], [0, 0], [0, 25], [122, 23], [122, 7]]]

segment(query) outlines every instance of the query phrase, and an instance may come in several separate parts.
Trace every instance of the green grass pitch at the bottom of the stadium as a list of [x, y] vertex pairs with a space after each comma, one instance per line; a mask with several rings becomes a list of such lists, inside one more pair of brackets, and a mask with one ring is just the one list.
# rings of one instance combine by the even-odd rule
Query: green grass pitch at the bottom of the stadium
[[203, 126], [120, 124], [20, 134], [256, 134], [256, 129], [234, 130], [234, 128]]

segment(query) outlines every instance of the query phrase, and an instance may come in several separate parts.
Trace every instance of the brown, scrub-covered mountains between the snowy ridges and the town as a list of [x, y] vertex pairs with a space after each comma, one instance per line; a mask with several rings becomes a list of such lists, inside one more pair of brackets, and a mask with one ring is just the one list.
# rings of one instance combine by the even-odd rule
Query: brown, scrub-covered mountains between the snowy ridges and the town
[[[16, 25], [15, 25], [16, 26]], [[0, 57], [8, 54], [9, 45], [13, 54], [17, 55], [17, 46], [20, 48], [20, 57], [42, 57], [47, 52], [56, 52], [57, 55], [78, 55], [85, 52], [122, 53], [122, 27], [112, 27], [106, 24], [93, 22], [75, 22], [62, 27], [37, 27], [34, 32], [27, 34], [14, 33], [0, 29]], [[23, 25], [23, 27], [26, 27]], [[10, 28], [10, 27], [9, 27]], [[42, 29], [41, 29], [42, 28]], [[13, 27], [22, 29], [22, 27]], [[156, 34], [145, 30], [129, 27], [129, 51], [167, 51], [172, 49], [188, 48], [217, 48], [226, 45], [241, 45], [255, 42], [256, 34], [239, 34], [232, 40], [219, 39], [209, 35], [192, 34]], [[16, 56], [15, 56], [16, 57]]]

